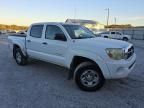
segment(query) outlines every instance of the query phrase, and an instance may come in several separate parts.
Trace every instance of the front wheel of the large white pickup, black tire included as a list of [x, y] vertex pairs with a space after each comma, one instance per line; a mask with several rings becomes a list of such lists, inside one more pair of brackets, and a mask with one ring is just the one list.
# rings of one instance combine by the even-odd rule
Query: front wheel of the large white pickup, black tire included
[[97, 91], [105, 83], [105, 78], [98, 66], [85, 62], [76, 68], [75, 82], [83, 91]]

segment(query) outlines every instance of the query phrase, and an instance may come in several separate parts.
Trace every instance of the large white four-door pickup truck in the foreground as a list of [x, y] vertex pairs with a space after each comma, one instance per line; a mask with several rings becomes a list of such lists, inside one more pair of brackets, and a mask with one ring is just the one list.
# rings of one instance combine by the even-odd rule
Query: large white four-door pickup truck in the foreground
[[76, 24], [36, 23], [27, 35], [8, 39], [18, 65], [34, 58], [66, 67], [69, 79], [85, 91], [100, 89], [105, 79], [127, 77], [136, 61], [132, 44], [95, 37]]

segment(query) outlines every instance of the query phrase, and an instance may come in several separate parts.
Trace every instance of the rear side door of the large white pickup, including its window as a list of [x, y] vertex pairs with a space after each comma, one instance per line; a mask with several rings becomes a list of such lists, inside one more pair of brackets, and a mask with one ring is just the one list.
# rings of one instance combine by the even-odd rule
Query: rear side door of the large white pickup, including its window
[[33, 25], [26, 37], [27, 53], [32, 58], [41, 59], [43, 29], [44, 25]]

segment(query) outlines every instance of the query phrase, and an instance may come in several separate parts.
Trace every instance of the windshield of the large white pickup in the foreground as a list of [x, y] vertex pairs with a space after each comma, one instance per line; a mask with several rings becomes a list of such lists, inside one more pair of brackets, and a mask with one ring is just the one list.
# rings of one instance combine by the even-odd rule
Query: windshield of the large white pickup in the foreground
[[87, 28], [80, 25], [63, 25], [72, 39], [95, 38], [96, 36]]

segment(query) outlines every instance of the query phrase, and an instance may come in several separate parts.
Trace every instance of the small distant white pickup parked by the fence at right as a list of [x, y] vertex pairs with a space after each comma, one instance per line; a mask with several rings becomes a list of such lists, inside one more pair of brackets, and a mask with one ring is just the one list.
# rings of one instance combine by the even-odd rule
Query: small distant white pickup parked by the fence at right
[[104, 37], [104, 38], [117, 39], [117, 40], [123, 40], [123, 41], [131, 40], [130, 35], [124, 35], [124, 34], [117, 32], [117, 31], [103, 32], [103, 33], [100, 33], [100, 36]]

